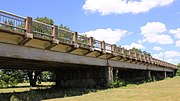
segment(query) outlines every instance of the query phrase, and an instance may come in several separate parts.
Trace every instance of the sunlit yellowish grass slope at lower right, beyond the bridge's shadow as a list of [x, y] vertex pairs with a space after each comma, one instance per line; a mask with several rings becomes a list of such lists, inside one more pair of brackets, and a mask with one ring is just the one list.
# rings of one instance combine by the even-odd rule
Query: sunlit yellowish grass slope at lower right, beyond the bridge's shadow
[[180, 101], [180, 77], [44, 101]]

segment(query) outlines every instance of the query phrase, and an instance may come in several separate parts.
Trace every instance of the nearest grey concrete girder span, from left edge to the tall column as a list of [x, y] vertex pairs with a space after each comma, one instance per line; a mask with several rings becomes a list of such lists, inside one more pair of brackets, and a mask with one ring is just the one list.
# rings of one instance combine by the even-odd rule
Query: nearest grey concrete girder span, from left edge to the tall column
[[99, 58], [79, 56], [69, 53], [53, 52], [31, 47], [0, 43], [0, 56], [62, 63], [106, 66], [107, 61]]

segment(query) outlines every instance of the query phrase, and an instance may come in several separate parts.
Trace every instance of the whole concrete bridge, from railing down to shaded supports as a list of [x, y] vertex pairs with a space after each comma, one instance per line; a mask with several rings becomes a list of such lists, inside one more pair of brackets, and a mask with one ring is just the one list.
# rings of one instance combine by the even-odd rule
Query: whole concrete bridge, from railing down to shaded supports
[[0, 68], [56, 71], [62, 87], [107, 85], [114, 75], [173, 76], [177, 66], [58, 28], [0, 11]]

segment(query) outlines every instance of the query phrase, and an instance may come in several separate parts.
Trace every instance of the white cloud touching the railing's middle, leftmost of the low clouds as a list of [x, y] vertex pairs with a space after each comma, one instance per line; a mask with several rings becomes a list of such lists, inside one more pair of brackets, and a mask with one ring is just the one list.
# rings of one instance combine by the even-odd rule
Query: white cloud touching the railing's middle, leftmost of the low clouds
[[122, 37], [128, 32], [121, 29], [96, 29], [94, 31], [88, 31], [82, 34], [86, 34], [88, 37], [94, 37], [96, 40], [105, 41], [106, 43], [116, 44]]

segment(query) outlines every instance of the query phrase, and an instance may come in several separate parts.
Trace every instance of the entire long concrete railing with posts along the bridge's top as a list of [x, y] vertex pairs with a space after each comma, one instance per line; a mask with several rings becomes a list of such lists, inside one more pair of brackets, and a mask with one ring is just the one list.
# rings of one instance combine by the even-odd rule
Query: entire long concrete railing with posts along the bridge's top
[[[83, 35], [79, 35], [77, 32], [60, 29], [55, 26], [56, 25], [48, 25], [36, 20], [32, 20], [31, 17], [25, 18], [0, 10], [0, 29], [3, 30], [21, 34], [25, 34], [25, 32], [32, 33], [34, 38], [50, 41], [57, 39], [59, 42], [65, 44], [79, 45], [88, 48], [90, 47], [98, 51], [113, 54], [115, 53], [125, 58], [136, 59], [164, 67], [176, 68], [176, 66], [173, 64], [148, 57], [145, 54], [137, 53], [121, 47], [116, 47], [115, 45], [105, 43], [105, 41], [95, 40], [92, 37], [89, 38]], [[57, 29], [57, 31], [55, 29]]]

